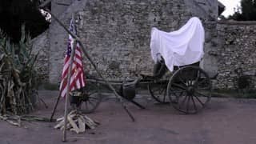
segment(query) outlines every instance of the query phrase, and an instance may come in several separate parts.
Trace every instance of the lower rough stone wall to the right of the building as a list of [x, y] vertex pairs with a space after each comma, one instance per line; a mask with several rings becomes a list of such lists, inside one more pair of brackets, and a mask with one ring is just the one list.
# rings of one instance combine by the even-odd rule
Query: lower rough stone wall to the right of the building
[[256, 22], [219, 22], [218, 38], [216, 87], [237, 88], [243, 77], [251, 81], [247, 88], [256, 88]]

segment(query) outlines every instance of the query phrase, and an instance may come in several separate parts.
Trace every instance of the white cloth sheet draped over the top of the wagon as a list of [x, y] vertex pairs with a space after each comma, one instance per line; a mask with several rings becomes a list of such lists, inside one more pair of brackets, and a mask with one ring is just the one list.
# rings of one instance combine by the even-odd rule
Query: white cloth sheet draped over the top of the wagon
[[204, 39], [202, 22], [196, 17], [170, 33], [154, 27], [151, 30], [151, 56], [157, 62], [157, 54], [161, 54], [167, 68], [173, 71], [174, 66], [190, 65], [202, 59]]

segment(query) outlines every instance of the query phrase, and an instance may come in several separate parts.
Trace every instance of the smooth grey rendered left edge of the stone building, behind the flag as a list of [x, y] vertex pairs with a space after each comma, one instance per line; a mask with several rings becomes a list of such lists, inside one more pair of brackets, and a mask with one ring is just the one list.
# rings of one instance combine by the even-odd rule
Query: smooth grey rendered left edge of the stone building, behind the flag
[[[53, 0], [51, 2], [52, 13], [60, 19], [67, 27], [70, 25], [70, 18], [76, 10], [83, 7], [82, 3], [86, 0], [78, 2], [76, 0]], [[49, 82], [58, 83], [61, 80], [62, 67], [66, 52], [68, 34], [66, 31], [52, 18], [49, 28]]]

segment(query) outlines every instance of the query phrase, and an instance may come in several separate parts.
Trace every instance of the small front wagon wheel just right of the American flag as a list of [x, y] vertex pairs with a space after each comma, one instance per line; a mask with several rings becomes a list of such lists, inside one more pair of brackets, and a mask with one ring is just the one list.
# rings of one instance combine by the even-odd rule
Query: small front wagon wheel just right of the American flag
[[100, 102], [102, 102], [102, 95], [98, 92], [97, 84], [86, 85], [82, 90], [82, 103], [79, 107], [81, 112], [85, 114], [94, 112]]

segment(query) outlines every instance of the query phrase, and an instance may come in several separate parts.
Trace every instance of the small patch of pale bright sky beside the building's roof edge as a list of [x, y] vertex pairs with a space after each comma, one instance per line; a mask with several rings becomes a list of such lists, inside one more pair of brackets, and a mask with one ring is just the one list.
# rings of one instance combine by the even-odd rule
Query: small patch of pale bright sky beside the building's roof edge
[[234, 8], [240, 6], [241, 0], [218, 0], [218, 2], [222, 2], [224, 6], [226, 6], [226, 10], [222, 13], [225, 17], [234, 14]]

